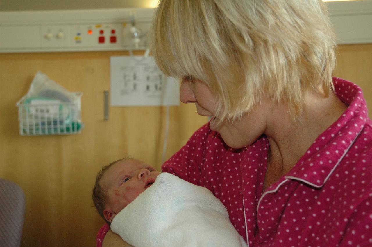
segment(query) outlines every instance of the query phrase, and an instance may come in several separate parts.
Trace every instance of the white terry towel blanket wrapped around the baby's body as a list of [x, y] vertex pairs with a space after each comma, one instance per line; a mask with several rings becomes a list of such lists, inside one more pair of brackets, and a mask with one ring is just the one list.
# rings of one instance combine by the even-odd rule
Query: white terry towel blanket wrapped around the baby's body
[[136, 247], [247, 246], [211, 191], [170, 173], [119, 212], [111, 229]]

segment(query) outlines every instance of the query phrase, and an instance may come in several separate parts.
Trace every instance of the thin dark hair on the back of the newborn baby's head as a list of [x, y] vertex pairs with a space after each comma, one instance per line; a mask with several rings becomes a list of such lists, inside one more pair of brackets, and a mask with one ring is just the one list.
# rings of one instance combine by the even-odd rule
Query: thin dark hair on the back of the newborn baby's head
[[104, 188], [104, 186], [101, 186], [101, 179], [102, 179], [102, 176], [105, 174], [105, 172], [112, 165], [116, 164], [116, 162], [118, 161], [126, 160], [126, 159], [129, 159], [129, 157], [126, 156], [123, 159], [115, 160], [109, 163], [108, 165], [103, 166], [102, 169], [97, 173], [96, 182], [94, 183], [93, 192], [92, 192], [92, 199], [93, 199], [94, 207], [96, 207], [99, 215], [101, 215], [103, 220], [105, 220], [106, 223], [108, 224], [110, 224], [110, 222], [108, 222], [105, 219], [105, 216], [103, 215], [103, 210], [105, 210], [105, 207], [107, 204], [107, 188]]

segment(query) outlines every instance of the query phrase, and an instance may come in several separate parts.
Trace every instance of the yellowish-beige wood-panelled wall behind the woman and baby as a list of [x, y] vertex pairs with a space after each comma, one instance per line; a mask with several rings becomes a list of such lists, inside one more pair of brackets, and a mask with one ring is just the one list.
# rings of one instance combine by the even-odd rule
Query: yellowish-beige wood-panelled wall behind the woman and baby
[[[360, 85], [372, 109], [372, 44], [338, 50], [335, 75]], [[126, 52], [0, 54], [0, 178], [26, 195], [22, 246], [94, 246], [103, 220], [92, 208], [91, 189], [102, 165], [125, 154], [161, 163], [165, 108], [110, 107], [103, 120], [103, 91], [109, 90], [109, 57]], [[19, 135], [17, 100], [41, 70], [70, 91], [83, 92], [81, 134]], [[371, 116], [371, 113], [370, 115]], [[206, 117], [194, 105], [170, 108], [167, 157]]]

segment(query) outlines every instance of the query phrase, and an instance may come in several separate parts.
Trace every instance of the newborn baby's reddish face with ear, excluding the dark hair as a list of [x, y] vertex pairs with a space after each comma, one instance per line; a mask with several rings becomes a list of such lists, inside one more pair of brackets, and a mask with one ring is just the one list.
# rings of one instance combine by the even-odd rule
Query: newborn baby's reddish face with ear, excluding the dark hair
[[105, 211], [110, 212], [106, 220], [111, 221], [123, 208], [138, 195], [150, 187], [160, 174], [155, 168], [141, 160], [120, 160], [112, 165], [101, 179], [101, 186], [108, 189], [108, 205]]

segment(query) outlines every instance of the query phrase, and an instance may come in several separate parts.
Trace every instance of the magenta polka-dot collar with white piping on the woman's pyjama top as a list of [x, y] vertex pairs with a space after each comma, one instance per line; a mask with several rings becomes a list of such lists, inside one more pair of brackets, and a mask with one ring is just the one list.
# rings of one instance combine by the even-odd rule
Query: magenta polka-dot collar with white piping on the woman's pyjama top
[[335, 94], [347, 109], [312, 143], [285, 178], [297, 179], [320, 188], [341, 162], [368, 119], [362, 90], [352, 82], [333, 78]]

